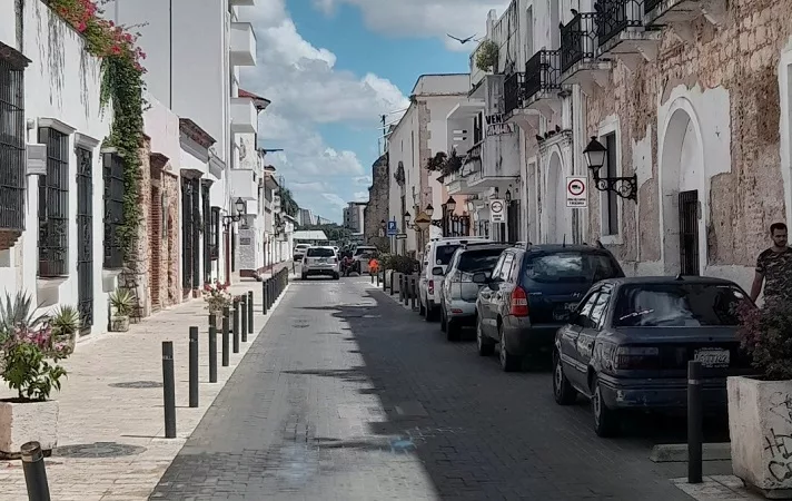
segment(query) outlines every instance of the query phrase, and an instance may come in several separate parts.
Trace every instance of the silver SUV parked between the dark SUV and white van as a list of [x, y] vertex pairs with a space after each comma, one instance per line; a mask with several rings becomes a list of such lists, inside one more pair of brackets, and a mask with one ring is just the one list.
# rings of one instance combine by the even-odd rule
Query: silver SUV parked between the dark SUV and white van
[[473, 275], [492, 275], [495, 263], [508, 244], [478, 242], [465, 244], [454, 253], [439, 287], [440, 330], [448, 341], [459, 338], [463, 326], [476, 324], [476, 298], [482, 284]]

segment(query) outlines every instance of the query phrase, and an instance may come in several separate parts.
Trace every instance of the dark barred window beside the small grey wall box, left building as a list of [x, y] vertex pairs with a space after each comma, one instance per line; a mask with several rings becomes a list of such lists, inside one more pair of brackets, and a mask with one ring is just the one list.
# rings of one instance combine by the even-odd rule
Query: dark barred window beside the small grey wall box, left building
[[47, 175], [39, 176], [39, 276], [69, 273], [69, 136], [39, 129], [47, 145]]

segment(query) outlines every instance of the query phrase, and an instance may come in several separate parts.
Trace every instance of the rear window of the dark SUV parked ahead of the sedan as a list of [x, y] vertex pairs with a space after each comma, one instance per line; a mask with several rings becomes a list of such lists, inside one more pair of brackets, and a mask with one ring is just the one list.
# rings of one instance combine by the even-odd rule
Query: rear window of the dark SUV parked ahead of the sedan
[[532, 253], [527, 256], [524, 274], [534, 282], [591, 284], [623, 276], [613, 257], [592, 252]]

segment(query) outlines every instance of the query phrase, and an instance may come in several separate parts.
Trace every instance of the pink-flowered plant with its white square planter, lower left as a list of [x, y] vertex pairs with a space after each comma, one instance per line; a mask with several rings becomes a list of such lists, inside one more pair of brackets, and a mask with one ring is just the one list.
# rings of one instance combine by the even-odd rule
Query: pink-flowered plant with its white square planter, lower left
[[44, 451], [58, 444], [59, 391], [66, 370], [58, 362], [71, 354], [59, 340], [50, 318], [31, 312], [30, 297], [6, 296], [0, 306], [0, 379], [17, 392], [0, 400], [0, 456], [16, 459], [24, 442], [37, 441]]

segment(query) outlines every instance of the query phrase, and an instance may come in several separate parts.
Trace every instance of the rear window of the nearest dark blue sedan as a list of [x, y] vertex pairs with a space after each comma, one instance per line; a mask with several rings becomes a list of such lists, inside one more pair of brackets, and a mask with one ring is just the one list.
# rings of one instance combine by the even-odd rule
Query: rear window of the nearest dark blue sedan
[[745, 301], [739, 287], [723, 284], [640, 284], [620, 289], [614, 327], [701, 327], [740, 324]]

